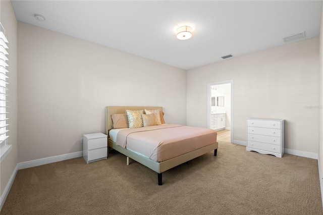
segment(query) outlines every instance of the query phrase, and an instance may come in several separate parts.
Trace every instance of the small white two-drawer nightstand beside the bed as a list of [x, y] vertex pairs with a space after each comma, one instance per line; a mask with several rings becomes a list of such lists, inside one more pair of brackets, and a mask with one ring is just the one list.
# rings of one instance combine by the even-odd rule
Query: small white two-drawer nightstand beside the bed
[[107, 135], [102, 133], [83, 134], [83, 158], [86, 163], [107, 157]]

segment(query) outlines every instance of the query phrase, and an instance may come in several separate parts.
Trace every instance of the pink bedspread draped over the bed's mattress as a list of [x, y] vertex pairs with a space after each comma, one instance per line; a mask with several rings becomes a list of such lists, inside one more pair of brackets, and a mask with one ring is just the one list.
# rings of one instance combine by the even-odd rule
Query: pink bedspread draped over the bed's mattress
[[212, 129], [163, 124], [121, 130], [116, 144], [163, 162], [215, 142], [217, 132]]

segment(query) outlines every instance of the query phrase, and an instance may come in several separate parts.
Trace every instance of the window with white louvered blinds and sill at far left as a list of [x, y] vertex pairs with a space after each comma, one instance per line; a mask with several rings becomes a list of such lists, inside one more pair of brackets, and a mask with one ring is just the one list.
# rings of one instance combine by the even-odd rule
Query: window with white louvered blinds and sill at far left
[[8, 55], [8, 40], [6, 38], [6, 31], [0, 23], [0, 162], [6, 157], [9, 151], [12, 149], [12, 145], [8, 145], [7, 136], [7, 79], [8, 73], [7, 67]]

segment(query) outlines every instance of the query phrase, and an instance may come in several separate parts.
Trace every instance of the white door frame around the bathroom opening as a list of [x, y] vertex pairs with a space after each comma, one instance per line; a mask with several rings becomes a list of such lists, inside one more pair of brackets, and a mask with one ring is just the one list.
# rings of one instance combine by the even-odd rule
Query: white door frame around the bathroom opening
[[207, 128], [210, 128], [210, 118], [211, 118], [211, 86], [220, 84], [231, 84], [231, 120], [230, 120], [230, 130], [231, 130], [231, 142], [233, 143], [233, 80], [213, 82], [207, 84]]

